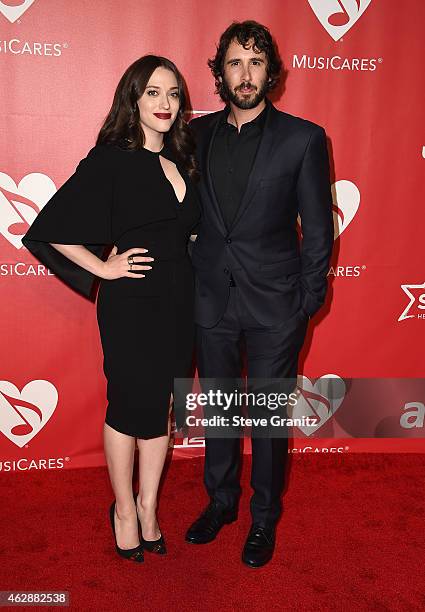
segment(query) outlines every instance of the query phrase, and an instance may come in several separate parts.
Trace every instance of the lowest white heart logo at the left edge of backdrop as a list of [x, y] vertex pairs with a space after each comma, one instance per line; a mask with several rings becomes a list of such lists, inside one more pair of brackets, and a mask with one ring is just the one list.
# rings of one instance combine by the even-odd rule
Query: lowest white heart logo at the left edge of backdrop
[[21, 392], [0, 380], [0, 431], [22, 448], [43, 429], [57, 403], [57, 389], [47, 380], [32, 380]]

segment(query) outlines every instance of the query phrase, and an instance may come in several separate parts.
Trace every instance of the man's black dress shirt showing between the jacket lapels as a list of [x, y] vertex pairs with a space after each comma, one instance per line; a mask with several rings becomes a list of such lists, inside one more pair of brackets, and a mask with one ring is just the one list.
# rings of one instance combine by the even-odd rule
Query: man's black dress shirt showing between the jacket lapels
[[210, 171], [227, 229], [230, 229], [245, 193], [264, 127], [265, 111], [244, 123], [238, 132], [238, 128], [227, 121], [230, 112], [228, 108], [217, 128], [211, 150]]

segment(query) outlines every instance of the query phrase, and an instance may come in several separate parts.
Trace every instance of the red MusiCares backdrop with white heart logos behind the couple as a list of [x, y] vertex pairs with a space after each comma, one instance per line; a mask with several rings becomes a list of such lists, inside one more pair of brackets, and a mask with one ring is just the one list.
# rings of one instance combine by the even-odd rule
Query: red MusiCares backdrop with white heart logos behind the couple
[[[104, 462], [95, 305], [38, 263], [23, 234], [93, 146], [130, 63], [146, 53], [169, 57], [185, 76], [193, 114], [218, 110], [207, 59], [222, 31], [245, 19], [270, 28], [284, 61], [273, 103], [324, 126], [331, 159], [330, 290], [310, 325], [299, 379], [318, 425], [296, 428], [290, 452], [425, 450], [417, 380], [425, 346], [425, 4], [1, 0], [3, 471]], [[338, 397], [329, 380], [340, 382]], [[348, 420], [347, 410], [338, 418], [344, 402]], [[174, 456], [202, 454], [203, 445], [202, 437], [176, 439]]]

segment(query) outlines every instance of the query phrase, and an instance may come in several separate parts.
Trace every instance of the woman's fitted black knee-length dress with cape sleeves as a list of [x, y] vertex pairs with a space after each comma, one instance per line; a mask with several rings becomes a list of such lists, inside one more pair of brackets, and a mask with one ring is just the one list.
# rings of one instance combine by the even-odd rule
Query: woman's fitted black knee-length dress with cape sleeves
[[174, 378], [190, 375], [194, 323], [193, 273], [187, 253], [200, 209], [180, 165], [182, 203], [166, 178], [163, 149], [94, 147], [41, 210], [23, 244], [67, 284], [94, 299], [95, 277], [50, 246], [83, 244], [102, 256], [148, 249], [155, 261], [145, 278], [101, 280], [97, 319], [108, 381], [106, 423], [139, 438], [167, 433]]

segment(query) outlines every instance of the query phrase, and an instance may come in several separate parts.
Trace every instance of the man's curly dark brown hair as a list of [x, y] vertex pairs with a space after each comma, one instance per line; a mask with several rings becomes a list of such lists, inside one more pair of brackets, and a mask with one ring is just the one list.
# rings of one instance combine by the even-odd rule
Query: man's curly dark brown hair
[[220, 36], [215, 57], [208, 60], [208, 66], [215, 78], [216, 93], [220, 94], [221, 99], [227, 102], [227, 96], [219, 77], [223, 79], [224, 58], [233, 40], [242, 45], [244, 49], [249, 49], [250, 43], [253, 41], [252, 46], [254, 51], [264, 51], [267, 58], [268, 82], [266, 91], [268, 92], [274, 89], [279, 81], [280, 72], [282, 70], [282, 60], [279, 57], [269, 29], [257, 21], [234, 21]]

